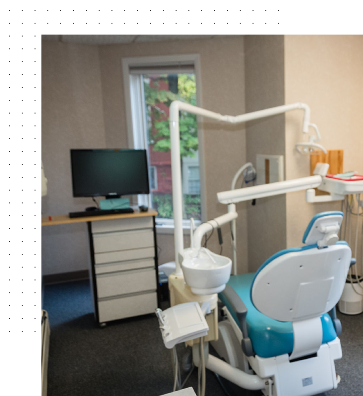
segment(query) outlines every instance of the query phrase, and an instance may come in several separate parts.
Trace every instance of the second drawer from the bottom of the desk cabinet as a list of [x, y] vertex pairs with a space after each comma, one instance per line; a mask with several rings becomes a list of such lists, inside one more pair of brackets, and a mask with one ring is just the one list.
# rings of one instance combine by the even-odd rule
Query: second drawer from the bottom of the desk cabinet
[[98, 298], [156, 290], [156, 272], [153, 268], [96, 275]]

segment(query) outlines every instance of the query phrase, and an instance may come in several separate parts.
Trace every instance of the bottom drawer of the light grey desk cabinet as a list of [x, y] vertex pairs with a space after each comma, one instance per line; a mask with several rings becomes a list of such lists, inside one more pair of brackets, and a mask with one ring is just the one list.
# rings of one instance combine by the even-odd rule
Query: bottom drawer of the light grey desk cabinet
[[152, 314], [156, 308], [155, 292], [101, 300], [98, 302], [99, 321], [102, 323], [124, 317]]

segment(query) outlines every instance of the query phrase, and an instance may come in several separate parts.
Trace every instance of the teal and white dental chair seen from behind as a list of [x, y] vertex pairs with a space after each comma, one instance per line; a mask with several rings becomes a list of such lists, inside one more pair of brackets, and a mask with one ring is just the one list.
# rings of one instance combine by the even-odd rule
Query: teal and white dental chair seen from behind
[[264, 395], [337, 387], [334, 360], [342, 351], [335, 305], [351, 263], [348, 243], [338, 241], [342, 221], [340, 211], [317, 214], [304, 246], [274, 254], [254, 274], [230, 277], [218, 293], [224, 320], [212, 345], [230, 365], [271, 381]]

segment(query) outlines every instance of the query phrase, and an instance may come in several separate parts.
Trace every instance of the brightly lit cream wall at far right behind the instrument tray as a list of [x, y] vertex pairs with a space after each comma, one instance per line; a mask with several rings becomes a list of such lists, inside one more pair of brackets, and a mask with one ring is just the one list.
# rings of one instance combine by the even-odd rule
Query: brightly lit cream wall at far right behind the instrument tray
[[[345, 171], [363, 172], [363, 36], [285, 36], [285, 100], [307, 103], [323, 146], [344, 150]], [[298, 111], [286, 115], [287, 179], [310, 174], [309, 157], [292, 149], [302, 140], [301, 125]], [[288, 194], [287, 246], [301, 244], [314, 214], [340, 208], [340, 201], [311, 204], [305, 192]]]

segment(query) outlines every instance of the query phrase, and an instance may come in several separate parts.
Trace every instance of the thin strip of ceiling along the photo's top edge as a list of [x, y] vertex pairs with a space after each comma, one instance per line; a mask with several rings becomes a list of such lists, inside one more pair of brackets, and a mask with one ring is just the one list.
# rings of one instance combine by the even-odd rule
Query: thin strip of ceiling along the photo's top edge
[[144, 41], [203, 40], [215, 37], [239, 37], [242, 35], [42, 35], [41, 40], [73, 42], [77, 44], [127, 44]]

